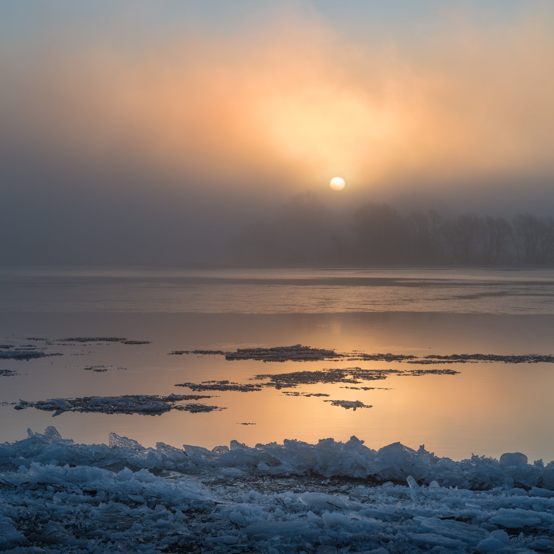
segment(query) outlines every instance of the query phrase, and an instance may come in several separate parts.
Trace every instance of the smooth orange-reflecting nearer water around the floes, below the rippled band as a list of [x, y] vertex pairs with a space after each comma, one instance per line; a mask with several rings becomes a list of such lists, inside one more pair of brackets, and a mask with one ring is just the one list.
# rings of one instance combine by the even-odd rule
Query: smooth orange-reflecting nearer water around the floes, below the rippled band
[[[367, 314], [4, 314], [0, 336], [18, 343], [24, 337], [124, 336], [150, 345], [98, 344], [48, 346], [63, 356], [0, 361], [20, 373], [0, 377], [0, 401], [36, 401], [55, 397], [119, 394], [187, 394], [176, 383], [228, 379], [240, 383], [258, 373], [283, 373], [330, 367], [413, 369], [396, 362], [315, 361], [264, 363], [225, 361], [220, 356], [168, 356], [176, 349], [235, 350], [243, 346], [302, 343], [337, 351], [367, 353], [551, 353], [554, 317], [490, 314], [389, 312]], [[74, 354], [74, 355], [71, 355]], [[114, 366], [104, 373], [85, 366]], [[116, 367], [125, 367], [117, 370]], [[387, 387], [361, 391], [344, 383], [305, 385], [260, 392], [206, 392], [205, 403], [227, 409], [161, 416], [63, 413], [0, 406], [0, 440], [22, 438], [28, 427], [42, 431], [54, 424], [79, 442], [106, 442], [109, 432], [144, 445], [214, 447], [230, 439], [254, 445], [296, 438], [316, 442], [356, 435], [372, 448], [400, 441], [420, 444], [438, 455], [461, 459], [471, 453], [500, 456], [521, 451], [531, 461], [554, 459], [550, 406], [554, 392], [551, 364], [466, 363], [459, 375], [394, 376], [358, 386]], [[290, 397], [283, 391], [322, 392], [330, 397]], [[370, 409], [356, 412], [325, 399], [360, 400]], [[240, 425], [255, 423], [255, 425]]]

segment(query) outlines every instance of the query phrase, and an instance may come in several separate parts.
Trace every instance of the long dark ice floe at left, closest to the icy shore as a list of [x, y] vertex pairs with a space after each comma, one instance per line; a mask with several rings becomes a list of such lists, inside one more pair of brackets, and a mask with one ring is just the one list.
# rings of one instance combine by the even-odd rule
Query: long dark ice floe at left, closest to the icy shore
[[170, 394], [169, 396], [157, 396], [153, 394], [132, 394], [128, 396], [86, 396], [84, 398], [50, 398], [27, 402], [20, 400], [14, 408], [37, 408], [47, 412], [54, 412], [53, 416], [59, 416], [64, 412], [101, 412], [106, 414], [142, 414], [158, 416], [170, 410], [182, 412], [213, 412], [221, 410], [218, 406], [205, 406], [204, 404], [178, 404], [186, 400], [199, 400], [212, 398], [203, 394]]

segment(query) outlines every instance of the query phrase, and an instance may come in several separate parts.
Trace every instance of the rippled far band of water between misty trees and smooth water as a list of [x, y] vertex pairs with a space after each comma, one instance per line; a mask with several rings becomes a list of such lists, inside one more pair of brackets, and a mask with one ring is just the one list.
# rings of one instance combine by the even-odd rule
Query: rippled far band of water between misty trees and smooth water
[[0, 268], [2, 312], [554, 314], [552, 270]]

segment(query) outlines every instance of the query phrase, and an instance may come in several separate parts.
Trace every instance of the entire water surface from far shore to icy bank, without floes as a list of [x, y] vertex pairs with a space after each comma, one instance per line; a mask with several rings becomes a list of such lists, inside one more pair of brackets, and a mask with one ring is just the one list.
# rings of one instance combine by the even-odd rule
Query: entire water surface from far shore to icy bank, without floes
[[[0, 272], [0, 337], [124, 336], [150, 345], [49, 346], [63, 356], [0, 361], [16, 370], [0, 377], [0, 401], [119, 394], [186, 394], [176, 383], [283, 373], [353, 362], [228, 362], [213, 356], [167, 356], [176, 349], [235, 350], [302, 343], [367, 353], [553, 353], [554, 271], [489, 270], [142, 270], [4, 269]], [[34, 342], [40, 345], [41, 343]], [[73, 355], [72, 355], [73, 354]], [[104, 373], [85, 371], [114, 366]], [[411, 369], [387, 362], [362, 368]], [[121, 366], [125, 370], [117, 370]], [[297, 438], [316, 442], [352, 434], [379, 448], [399, 440], [455, 459], [471, 453], [520, 451], [554, 459], [548, 364], [472, 363], [455, 376], [391, 376], [361, 386], [298, 387], [331, 399], [360, 400], [371, 409], [333, 407], [321, 397], [261, 392], [213, 392], [206, 403], [227, 409], [162, 416], [16, 411], [0, 406], [0, 441], [54, 424], [79, 442], [107, 434], [175, 446], [214, 447], [237, 439], [250, 445]], [[286, 390], [286, 389], [285, 389]], [[255, 425], [240, 425], [240, 423]]]

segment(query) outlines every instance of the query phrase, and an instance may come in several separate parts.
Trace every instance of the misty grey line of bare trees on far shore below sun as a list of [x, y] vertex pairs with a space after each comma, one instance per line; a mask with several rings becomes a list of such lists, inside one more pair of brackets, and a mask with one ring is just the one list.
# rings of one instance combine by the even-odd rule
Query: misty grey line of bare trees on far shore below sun
[[266, 266], [554, 264], [554, 218], [434, 209], [401, 212], [368, 202], [340, 214], [311, 195], [245, 228], [235, 263]]

